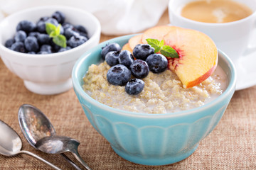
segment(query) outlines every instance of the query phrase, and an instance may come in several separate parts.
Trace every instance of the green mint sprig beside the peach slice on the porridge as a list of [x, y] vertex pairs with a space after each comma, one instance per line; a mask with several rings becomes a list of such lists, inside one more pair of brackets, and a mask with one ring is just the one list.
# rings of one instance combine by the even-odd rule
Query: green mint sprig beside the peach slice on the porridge
[[165, 57], [171, 57], [171, 58], [179, 58], [178, 52], [174, 50], [174, 48], [170, 47], [169, 45], [164, 45], [164, 40], [156, 40], [147, 38], [146, 42], [148, 42], [151, 47], [154, 47], [155, 52], [161, 53], [161, 55], [164, 55]]

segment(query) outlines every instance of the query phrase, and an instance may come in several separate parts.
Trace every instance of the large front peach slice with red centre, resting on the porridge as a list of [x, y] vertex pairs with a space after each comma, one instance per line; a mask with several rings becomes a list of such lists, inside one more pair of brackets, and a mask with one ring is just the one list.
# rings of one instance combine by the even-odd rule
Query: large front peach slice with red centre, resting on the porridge
[[204, 33], [173, 27], [164, 35], [164, 42], [178, 52], [179, 58], [169, 60], [169, 69], [177, 74], [185, 88], [200, 84], [217, 67], [217, 47]]

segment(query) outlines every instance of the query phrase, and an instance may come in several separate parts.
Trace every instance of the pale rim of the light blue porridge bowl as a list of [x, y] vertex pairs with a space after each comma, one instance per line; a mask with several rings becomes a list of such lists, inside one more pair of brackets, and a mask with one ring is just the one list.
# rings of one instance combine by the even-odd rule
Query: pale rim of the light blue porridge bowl
[[124, 35], [124, 36], [120, 36], [117, 38], [112, 38], [110, 40], [107, 40], [105, 42], [101, 42], [99, 45], [97, 45], [96, 47], [93, 47], [92, 49], [88, 50], [87, 52], [85, 52], [85, 54], [83, 54], [78, 60], [77, 62], [75, 62], [75, 65], [73, 67], [73, 72], [72, 72], [72, 82], [73, 82], [73, 89], [75, 89], [78, 94], [80, 94], [80, 96], [82, 96], [82, 98], [85, 98], [90, 104], [97, 106], [101, 109], [104, 109], [110, 113], [115, 113], [115, 114], [121, 114], [121, 115], [126, 115], [129, 117], [143, 117], [143, 118], [171, 118], [171, 117], [178, 117], [178, 116], [184, 116], [184, 115], [191, 115], [194, 113], [198, 113], [201, 112], [203, 110], [207, 110], [208, 108], [215, 106], [218, 103], [221, 103], [222, 101], [225, 100], [225, 98], [228, 98], [228, 96], [233, 93], [233, 91], [235, 91], [235, 83], [236, 83], [236, 79], [237, 79], [237, 73], [235, 70], [235, 66], [233, 64], [233, 62], [230, 60], [230, 58], [225, 55], [224, 52], [222, 52], [221, 50], [218, 50], [218, 55], [222, 56], [222, 59], [224, 60], [225, 63], [227, 63], [229, 69], [231, 70], [231, 74], [230, 74], [230, 84], [228, 84], [227, 89], [225, 89], [225, 91], [223, 92], [223, 94], [221, 94], [220, 96], [218, 96], [217, 98], [213, 99], [213, 101], [210, 101], [209, 103], [206, 103], [203, 106], [197, 107], [197, 108], [192, 108], [186, 111], [178, 111], [178, 112], [174, 112], [174, 113], [159, 113], [159, 114], [149, 114], [149, 113], [134, 113], [131, 111], [124, 111], [121, 109], [117, 109], [117, 108], [112, 108], [110, 106], [107, 106], [103, 103], [100, 103], [99, 101], [96, 101], [94, 98], [90, 97], [88, 94], [85, 93], [85, 91], [82, 89], [82, 86], [80, 86], [80, 79], [78, 79], [78, 70], [81, 66], [81, 64], [85, 61], [86, 57], [88, 55], [90, 55], [91, 53], [93, 53], [95, 50], [97, 50], [99, 47], [103, 47], [105, 46], [107, 43], [112, 43], [112, 42], [118, 42], [120, 40], [129, 40], [129, 38], [131, 38], [134, 35], [138, 35], [138, 34], [132, 34], [132, 35]]

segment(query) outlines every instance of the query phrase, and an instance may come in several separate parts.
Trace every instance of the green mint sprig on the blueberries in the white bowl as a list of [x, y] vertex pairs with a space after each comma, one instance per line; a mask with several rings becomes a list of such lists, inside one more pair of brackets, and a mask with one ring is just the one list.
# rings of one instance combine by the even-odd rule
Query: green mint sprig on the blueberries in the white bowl
[[67, 47], [67, 39], [64, 35], [60, 34], [60, 27], [55, 26], [53, 23], [46, 23], [46, 33], [50, 36], [50, 38], [53, 38], [53, 42], [56, 45], [59, 45], [60, 47]]

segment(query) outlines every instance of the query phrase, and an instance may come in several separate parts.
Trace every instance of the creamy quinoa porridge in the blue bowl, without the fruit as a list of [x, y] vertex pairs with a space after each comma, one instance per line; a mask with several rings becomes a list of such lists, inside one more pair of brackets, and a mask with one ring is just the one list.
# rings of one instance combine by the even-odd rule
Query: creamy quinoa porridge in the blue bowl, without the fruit
[[106, 62], [92, 64], [85, 74], [83, 89], [100, 103], [112, 108], [138, 113], [173, 113], [203, 106], [225, 91], [227, 80], [219, 66], [206, 81], [184, 89], [174, 72], [167, 69], [160, 74], [149, 72], [143, 79], [140, 94], [129, 95], [124, 86], [114, 86], [107, 81], [110, 66]]

